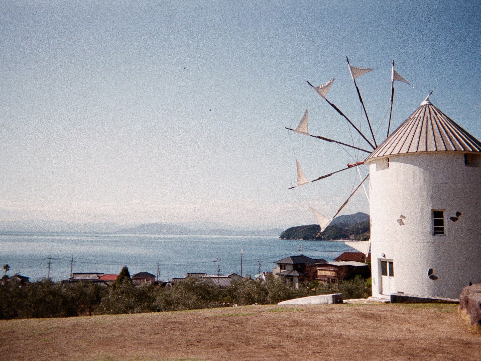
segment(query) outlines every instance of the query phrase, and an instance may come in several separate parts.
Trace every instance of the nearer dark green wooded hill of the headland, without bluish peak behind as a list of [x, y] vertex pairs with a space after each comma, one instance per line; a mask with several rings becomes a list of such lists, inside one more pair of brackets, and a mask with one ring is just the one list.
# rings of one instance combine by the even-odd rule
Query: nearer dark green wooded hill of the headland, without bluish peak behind
[[320, 227], [318, 224], [291, 227], [282, 232], [279, 239], [318, 241], [353, 239], [356, 241], [364, 241], [369, 239], [370, 236], [370, 225], [368, 220], [354, 224], [338, 222], [334, 225], [329, 225], [319, 237], [316, 237], [319, 230]]

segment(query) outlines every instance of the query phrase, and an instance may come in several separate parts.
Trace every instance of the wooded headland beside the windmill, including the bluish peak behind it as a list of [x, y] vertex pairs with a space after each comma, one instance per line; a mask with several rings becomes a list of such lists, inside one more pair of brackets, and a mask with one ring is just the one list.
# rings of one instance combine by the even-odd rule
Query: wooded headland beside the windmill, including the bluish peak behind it
[[336, 217], [318, 237], [318, 224], [291, 227], [282, 232], [279, 239], [364, 241], [370, 237], [369, 215], [358, 212]]

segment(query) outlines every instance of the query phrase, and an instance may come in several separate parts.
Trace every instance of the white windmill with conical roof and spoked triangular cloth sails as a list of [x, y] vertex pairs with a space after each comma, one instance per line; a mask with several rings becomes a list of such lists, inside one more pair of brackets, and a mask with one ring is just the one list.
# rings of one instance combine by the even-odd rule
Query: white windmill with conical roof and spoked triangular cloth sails
[[[372, 69], [349, 64], [349, 70], [374, 144], [326, 99], [334, 79], [318, 87], [308, 83], [373, 150], [309, 134], [307, 111], [296, 129], [288, 129], [369, 154], [363, 162], [349, 164], [347, 168], [314, 181], [359, 164], [369, 167], [370, 243], [349, 242], [349, 245], [366, 254], [370, 245], [373, 296], [404, 292], [457, 298], [469, 282], [481, 282], [481, 241], [478, 236], [481, 234], [481, 142], [432, 105], [428, 96], [391, 135], [390, 115], [388, 138], [378, 146], [355, 81], [356, 77]], [[409, 84], [394, 70], [393, 62], [391, 112], [395, 80]], [[296, 163], [298, 181], [295, 187], [312, 182], [307, 181]], [[366, 179], [333, 217], [324, 217], [311, 208], [319, 221], [319, 233]]]

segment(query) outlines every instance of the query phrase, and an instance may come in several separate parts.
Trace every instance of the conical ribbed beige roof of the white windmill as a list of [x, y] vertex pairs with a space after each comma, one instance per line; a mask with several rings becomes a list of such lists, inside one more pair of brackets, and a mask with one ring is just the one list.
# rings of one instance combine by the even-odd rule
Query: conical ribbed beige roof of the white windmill
[[427, 97], [367, 159], [442, 151], [481, 152], [481, 142], [432, 105]]

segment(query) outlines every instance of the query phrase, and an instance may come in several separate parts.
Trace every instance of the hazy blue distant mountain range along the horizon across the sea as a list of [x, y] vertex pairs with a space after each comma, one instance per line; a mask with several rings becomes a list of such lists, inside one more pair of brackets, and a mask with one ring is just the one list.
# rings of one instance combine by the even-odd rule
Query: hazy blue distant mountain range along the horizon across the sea
[[[74, 223], [63, 220], [19, 220], [0, 222], [0, 232], [85, 232], [85, 233], [127, 233], [127, 234], [197, 234], [197, 235], [273, 235], [278, 236], [282, 229], [245, 230], [216, 222], [190, 222], [199, 228], [166, 223], [144, 223], [140, 225], [120, 225], [114, 222]], [[256, 228], [259, 225], [254, 225]], [[224, 228], [225, 227], [225, 228]]]

